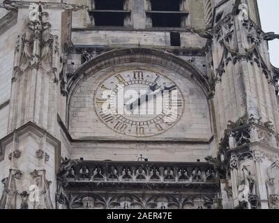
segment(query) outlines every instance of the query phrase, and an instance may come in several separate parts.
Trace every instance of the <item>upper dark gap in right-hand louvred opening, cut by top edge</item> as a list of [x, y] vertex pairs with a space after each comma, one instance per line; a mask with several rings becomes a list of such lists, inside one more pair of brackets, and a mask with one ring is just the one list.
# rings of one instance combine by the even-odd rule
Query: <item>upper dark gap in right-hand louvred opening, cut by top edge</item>
[[181, 0], [151, 0], [153, 11], [179, 11]]

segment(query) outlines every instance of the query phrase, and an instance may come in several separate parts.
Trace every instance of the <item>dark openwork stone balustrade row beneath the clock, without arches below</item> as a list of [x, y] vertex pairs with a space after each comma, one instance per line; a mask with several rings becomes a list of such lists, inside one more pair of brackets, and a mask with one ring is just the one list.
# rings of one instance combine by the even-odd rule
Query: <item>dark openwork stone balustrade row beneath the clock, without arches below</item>
[[126, 185], [215, 184], [216, 171], [207, 163], [81, 161], [66, 176], [69, 185], [103, 182]]

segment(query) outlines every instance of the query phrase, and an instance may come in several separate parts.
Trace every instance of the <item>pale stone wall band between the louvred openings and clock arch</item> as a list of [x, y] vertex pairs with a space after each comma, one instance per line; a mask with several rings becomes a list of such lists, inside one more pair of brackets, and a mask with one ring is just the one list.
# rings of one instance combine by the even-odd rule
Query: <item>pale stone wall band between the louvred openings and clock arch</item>
[[[169, 47], [170, 31], [73, 31], [73, 44], [91, 47]], [[201, 49], [206, 41], [196, 33], [181, 31], [181, 47]], [[175, 47], [174, 47], [175, 48]]]

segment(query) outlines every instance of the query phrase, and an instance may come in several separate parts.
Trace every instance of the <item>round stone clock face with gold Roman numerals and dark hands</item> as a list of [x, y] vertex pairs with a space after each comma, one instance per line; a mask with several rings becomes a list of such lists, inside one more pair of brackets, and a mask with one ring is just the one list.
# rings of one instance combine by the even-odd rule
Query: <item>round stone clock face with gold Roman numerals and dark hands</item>
[[132, 137], [151, 137], [169, 130], [184, 108], [176, 83], [151, 70], [110, 75], [96, 89], [94, 101], [107, 127]]

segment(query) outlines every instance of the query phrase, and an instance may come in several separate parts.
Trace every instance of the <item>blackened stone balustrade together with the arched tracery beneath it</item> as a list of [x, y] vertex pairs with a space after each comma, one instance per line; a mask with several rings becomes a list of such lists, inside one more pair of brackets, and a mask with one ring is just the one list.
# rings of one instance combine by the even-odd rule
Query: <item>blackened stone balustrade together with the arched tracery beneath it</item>
[[204, 162], [66, 160], [57, 178], [65, 208], [213, 208], [219, 190]]

